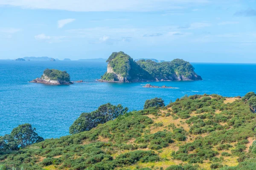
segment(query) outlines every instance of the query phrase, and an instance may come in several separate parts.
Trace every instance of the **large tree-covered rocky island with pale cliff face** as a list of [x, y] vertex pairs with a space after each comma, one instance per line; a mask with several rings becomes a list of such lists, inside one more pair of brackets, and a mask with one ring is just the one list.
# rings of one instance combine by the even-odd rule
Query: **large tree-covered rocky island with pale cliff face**
[[173, 80], [202, 80], [194, 67], [183, 59], [171, 62], [154, 62], [141, 59], [134, 61], [124, 52], [113, 52], [107, 59], [107, 72], [98, 79], [100, 82], [149, 82]]

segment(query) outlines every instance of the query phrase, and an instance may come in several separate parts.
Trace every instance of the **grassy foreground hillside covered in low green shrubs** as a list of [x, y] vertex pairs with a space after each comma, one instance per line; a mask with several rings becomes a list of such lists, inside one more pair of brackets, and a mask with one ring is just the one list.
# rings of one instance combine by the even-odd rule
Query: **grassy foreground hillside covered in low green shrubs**
[[0, 152], [0, 164], [17, 170], [254, 170], [255, 99], [184, 96], [90, 131]]

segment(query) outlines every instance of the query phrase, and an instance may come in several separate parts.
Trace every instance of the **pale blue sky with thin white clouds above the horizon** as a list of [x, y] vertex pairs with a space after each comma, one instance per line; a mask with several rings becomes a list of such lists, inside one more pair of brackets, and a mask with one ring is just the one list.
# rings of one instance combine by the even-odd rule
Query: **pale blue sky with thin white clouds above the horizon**
[[0, 59], [256, 63], [256, 0], [0, 0]]

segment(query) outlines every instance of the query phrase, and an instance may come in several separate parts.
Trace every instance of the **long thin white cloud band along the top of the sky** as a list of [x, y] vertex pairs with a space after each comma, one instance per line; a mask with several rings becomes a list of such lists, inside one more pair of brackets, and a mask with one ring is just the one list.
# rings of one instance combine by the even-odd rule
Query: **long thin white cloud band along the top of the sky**
[[0, 5], [67, 11], [163, 11], [209, 0], [0, 0]]

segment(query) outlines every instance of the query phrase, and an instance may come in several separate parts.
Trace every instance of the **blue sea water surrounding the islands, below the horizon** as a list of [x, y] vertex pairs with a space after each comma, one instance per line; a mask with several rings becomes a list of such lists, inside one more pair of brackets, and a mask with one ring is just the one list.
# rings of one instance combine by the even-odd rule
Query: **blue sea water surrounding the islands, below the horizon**
[[[90, 112], [107, 102], [122, 104], [130, 111], [143, 109], [146, 99], [162, 97], [166, 104], [187, 95], [220, 94], [243, 96], [256, 91], [256, 64], [192, 63], [204, 79], [187, 82], [150, 82], [178, 89], [143, 88], [145, 83], [100, 83], [105, 62], [87, 61], [4, 61], [0, 60], [0, 135], [30, 123], [44, 138], [69, 134], [69, 127], [82, 112]], [[46, 68], [66, 70], [74, 85], [29, 83]]]

